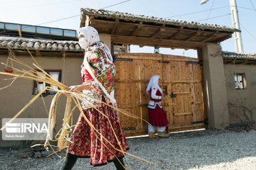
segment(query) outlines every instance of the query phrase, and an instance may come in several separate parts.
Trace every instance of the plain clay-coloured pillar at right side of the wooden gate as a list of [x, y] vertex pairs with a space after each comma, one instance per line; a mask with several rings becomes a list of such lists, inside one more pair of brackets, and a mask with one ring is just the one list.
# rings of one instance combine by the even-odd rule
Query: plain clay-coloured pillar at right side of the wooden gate
[[211, 129], [222, 129], [228, 127], [229, 116], [221, 47], [206, 43], [202, 55], [209, 126]]

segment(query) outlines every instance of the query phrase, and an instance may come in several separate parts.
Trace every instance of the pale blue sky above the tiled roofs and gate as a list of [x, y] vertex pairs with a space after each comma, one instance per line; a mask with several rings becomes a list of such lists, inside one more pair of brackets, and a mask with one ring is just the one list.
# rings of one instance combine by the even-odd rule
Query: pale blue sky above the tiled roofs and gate
[[[80, 8], [105, 8], [144, 16], [232, 26], [229, 0], [0, 0], [0, 21], [76, 29]], [[256, 53], [256, 0], [237, 0], [242, 42], [246, 53]], [[211, 9], [211, 10], [210, 10]], [[72, 18], [68, 18], [75, 16]], [[63, 19], [68, 18], [68, 19]], [[63, 19], [63, 20], [62, 20]], [[58, 21], [60, 20], [60, 21]], [[233, 38], [221, 43], [224, 51], [235, 51]], [[132, 47], [132, 52], [154, 52], [152, 47]], [[195, 57], [193, 50], [160, 49], [161, 53]]]

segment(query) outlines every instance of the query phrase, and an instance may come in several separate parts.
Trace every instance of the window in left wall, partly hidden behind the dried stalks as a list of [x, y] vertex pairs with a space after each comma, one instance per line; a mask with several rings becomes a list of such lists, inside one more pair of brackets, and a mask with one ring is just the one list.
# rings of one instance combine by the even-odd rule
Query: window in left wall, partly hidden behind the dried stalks
[[[60, 70], [46, 70], [46, 73], [48, 75], [50, 75], [50, 77], [53, 77], [53, 79], [57, 80], [57, 81], [61, 81], [61, 71]], [[43, 72], [41, 72], [41, 74], [43, 75], [46, 75], [44, 74]], [[38, 75], [38, 77], [42, 78], [42, 79], [45, 79], [45, 77], [41, 76], [41, 75]], [[38, 94], [39, 92], [41, 92], [43, 89], [46, 88], [46, 86], [50, 86], [54, 89], [58, 89], [57, 86], [53, 86], [51, 84], [46, 84], [45, 82], [43, 81], [34, 81], [34, 86], [33, 86], [33, 95], [36, 95]], [[47, 96], [49, 94], [55, 94], [56, 92], [55, 91], [50, 91], [50, 90], [47, 90], [46, 92], [44, 92], [42, 95], [43, 96]]]

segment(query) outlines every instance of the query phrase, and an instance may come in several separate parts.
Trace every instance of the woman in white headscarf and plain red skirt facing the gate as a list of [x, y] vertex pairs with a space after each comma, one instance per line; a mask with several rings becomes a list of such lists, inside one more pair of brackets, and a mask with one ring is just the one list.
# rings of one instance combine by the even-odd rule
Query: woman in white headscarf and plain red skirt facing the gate
[[154, 75], [149, 81], [149, 85], [146, 88], [146, 93], [150, 94], [150, 101], [148, 105], [149, 109], [149, 138], [157, 137], [155, 128], [159, 137], [169, 137], [169, 133], [165, 133], [166, 125], [169, 124], [164, 108], [161, 106], [161, 99], [164, 98], [163, 91], [159, 86], [159, 76]]

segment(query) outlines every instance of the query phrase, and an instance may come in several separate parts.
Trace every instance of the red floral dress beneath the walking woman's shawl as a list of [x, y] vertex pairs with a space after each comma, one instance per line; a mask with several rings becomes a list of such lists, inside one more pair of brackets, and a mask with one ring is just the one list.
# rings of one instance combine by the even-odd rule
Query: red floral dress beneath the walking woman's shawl
[[[91, 58], [95, 60], [94, 57], [92, 56]], [[100, 85], [94, 79], [92, 80], [92, 76], [85, 67], [82, 68], [82, 79], [83, 83], [87, 83], [92, 87], [89, 91], [83, 91], [84, 94], [114, 106], [110, 98], [102, 91]], [[106, 84], [106, 86], [108, 85]], [[114, 86], [111, 86], [111, 88], [114, 88]], [[68, 153], [79, 157], [90, 157], [90, 162], [94, 166], [107, 164], [107, 162], [111, 162], [116, 157], [123, 157], [124, 154], [116, 149], [121, 150], [122, 147], [125, 152], [129, 149], [129, 146], [124, 137], [118, 112], [110, 106], [90, 98], [85, 98], [82, 101], [82, 108], [83, 114], [85, 114], [97, 132], [90, 128], [81, 113], [71, 135], [72, 142], [68, 147]], [[114, 133], [117, 137], [114, 136]]]

